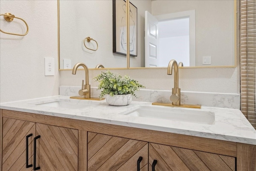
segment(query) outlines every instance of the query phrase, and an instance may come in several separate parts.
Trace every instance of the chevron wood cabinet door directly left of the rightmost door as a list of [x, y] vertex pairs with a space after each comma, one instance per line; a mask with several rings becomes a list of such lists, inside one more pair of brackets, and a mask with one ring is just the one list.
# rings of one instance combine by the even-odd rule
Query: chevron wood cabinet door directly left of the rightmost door
[[88, 132], [88, 171], [148, 171], [148, 142]]

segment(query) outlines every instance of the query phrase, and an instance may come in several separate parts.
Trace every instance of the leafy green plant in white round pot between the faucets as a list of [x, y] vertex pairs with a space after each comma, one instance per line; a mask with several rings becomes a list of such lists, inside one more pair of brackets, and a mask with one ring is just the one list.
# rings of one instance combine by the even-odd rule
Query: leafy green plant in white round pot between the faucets
[[144, 87], [129, 76], [122, 78], [120, 74], [113, 74], [109, 70], [101, 72], [101, 74], [94, 77], [94, 80], [99, 82], [98, 89], [102, 89], [100, 98], [106, 95], [106, 102], [110, 105], [130, 104], [132, 95], [136, 97], [134, 92], [140, 87]]

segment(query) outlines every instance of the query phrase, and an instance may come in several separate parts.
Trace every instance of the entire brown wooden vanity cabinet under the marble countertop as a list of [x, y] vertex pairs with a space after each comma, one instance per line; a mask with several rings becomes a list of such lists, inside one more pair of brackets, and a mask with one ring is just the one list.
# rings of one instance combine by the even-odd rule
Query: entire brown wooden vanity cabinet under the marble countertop
[[[254, 171], [256, 145], [0, 109], [0, 171]], [[28, 148], [26, 148], [26, 136]], [[40, 138], [34, 141], [34, 138]], [[1, 167], [2, 166], [2, 167]]]

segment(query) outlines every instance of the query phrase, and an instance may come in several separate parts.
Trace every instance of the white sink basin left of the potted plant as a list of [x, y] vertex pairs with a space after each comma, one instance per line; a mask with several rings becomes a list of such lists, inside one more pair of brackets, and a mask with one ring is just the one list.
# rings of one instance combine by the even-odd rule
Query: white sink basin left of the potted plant
[[53, 99], [51, 101], [39, 101], [36, 103], [30, 103], [30, 104], [48, 106], [48, 107], [59, 107], [59, 108], [66, 108], [66, 109], [80, 109], [80, 108], [88, 107], [91, 105], [97, 105], [99, 103], [100, 103], [99, 101], [89, 101], [89, 100]]

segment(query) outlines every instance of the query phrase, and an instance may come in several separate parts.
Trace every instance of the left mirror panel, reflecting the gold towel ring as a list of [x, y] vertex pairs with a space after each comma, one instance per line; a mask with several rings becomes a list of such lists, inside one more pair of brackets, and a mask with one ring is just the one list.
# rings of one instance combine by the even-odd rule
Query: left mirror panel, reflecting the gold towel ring
[[[113, 53], [112, 0], [58, 0], [58, 7], [59, 70], [77, 62], [88, 68], [127, 68], [126, 56]], [[93, 40], [84, 41], [87, 37]]]

